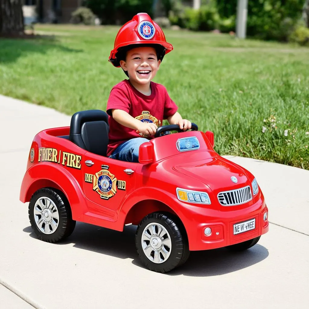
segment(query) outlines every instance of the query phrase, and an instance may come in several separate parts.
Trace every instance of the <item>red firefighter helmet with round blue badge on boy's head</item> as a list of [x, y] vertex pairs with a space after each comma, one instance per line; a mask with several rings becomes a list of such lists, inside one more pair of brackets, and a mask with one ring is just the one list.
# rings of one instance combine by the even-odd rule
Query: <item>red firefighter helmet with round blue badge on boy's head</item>
[[[125, 23], [117, 33], [114, 49], [108, 61], [116, 67], [120, 67], [120, 59], [117, 59], [117, 52], [125, 50], [129, 45], [143, 44], [157, 48], [158, 60], [162, 61], [165, 54], [173, 49], [173, 45], [167, 43], [160, 26], [155, 23], [147, 13], [138, 13], [132, 20]], [[137, 47], [138, 45], [136, 45]]]

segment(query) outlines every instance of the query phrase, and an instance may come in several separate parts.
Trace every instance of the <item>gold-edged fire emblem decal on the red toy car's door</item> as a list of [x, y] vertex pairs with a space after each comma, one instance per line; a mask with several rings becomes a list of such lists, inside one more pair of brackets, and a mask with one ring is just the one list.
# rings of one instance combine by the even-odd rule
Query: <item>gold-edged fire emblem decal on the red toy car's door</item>
[[100, 170], [93, 175], [93, 190], [99, 193], [101, 198], [108, 200], [113, 197], [117, 192], [116, 183], [115, 175], [108, 170]]

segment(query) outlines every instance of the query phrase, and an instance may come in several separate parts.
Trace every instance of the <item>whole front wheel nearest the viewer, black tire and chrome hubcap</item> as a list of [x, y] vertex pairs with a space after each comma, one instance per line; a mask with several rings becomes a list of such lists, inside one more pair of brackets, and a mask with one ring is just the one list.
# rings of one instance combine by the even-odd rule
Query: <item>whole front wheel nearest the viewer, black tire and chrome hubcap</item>
[[138, 256], [152, 271], [166, 273], [189, 257], [186, 232], [169, 214], [152, 213], [142, 219], [135, 235]]

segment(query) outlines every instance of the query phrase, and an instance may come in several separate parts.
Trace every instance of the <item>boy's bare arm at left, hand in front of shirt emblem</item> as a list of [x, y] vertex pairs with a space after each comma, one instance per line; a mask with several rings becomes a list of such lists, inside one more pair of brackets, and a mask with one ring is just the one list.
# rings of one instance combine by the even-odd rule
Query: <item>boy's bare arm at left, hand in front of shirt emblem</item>
[[121, 125], [137, 130], [137, 133], [154, 135], [158, 129], [154, 123], [144, 123], [121, 109], [112, 109], [112, 117]]

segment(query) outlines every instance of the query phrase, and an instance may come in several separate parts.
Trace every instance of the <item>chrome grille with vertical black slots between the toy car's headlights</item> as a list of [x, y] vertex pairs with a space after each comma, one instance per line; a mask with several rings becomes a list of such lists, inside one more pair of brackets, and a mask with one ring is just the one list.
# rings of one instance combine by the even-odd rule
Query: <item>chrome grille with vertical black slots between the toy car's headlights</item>
[[222, 206], [240, 205], [251, 200], [252, 193], [250, 186], [218, 193], [218, 201]]

